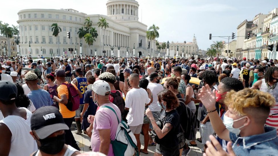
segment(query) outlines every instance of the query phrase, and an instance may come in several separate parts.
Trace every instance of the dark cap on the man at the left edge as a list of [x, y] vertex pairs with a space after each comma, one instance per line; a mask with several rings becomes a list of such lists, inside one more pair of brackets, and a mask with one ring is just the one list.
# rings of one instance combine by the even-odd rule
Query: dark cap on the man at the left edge
[[17, 86], [10, 81], [0, 81], [0, 100], [9, 101], [17, 97]]

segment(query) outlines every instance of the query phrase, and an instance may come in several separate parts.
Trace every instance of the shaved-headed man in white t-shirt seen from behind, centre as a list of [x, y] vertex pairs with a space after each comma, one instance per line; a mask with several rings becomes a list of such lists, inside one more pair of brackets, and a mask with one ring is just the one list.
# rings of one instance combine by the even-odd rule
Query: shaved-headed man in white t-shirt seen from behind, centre
[[140, 132], [142, 129], [144, 119], [145, 104], [150, 103], [150, 99], [148, 97], [147, 91], [143, 88], [138, 87], [138, 74], [130, 74], [128, 82], [131, 86], [131, 90], [129, 90], [126, 94], [125, 110], [129, 111], [126, 116], [126, 120], [127, 124], [130, 126], [130, 130], [132, 131], [137, 140], [138, 150], [140, 150]]

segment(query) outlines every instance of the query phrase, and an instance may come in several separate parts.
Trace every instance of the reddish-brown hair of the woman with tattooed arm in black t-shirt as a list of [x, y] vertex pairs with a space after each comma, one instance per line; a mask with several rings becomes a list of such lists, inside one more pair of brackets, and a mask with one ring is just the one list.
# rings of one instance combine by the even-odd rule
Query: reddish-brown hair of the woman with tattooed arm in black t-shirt
[[160, 103], [162, 100], [166, 102], [166, 109], [175, 109], [179, 106], [177, 96], [170, 90], [162, 90], [157, 96]]

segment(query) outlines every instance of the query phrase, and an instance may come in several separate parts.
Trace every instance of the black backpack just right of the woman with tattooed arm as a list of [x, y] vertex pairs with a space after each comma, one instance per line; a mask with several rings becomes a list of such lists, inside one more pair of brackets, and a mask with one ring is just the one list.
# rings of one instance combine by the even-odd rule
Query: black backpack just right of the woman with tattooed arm
[[[178, 100], [180, 104], [185, 105], [184, 99], [179, 98]], [[183, 130], [185, 139], [192, 140], [195, 135], [194, 129], [197, 128], [197, 118], [195, 114], [191, 111], [191, 109], [187, 105], [185, 106], [186, 106], [186, 112], [183, 113], [186, 113], [187, 118], [181, 120], [181, 122], [184, 122], [183, 124], [184, 126], [181, 126], [181, 129]]]

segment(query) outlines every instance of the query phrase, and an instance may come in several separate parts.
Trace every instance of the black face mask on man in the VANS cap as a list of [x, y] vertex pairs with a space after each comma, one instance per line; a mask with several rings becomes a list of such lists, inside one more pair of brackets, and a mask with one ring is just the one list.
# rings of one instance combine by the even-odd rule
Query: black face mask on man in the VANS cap
[[65, 145], [65, 133], [56, 137], [39, 139], [40, 142], [39, 149], [47, 154], [57, 154], [62, 151]]

